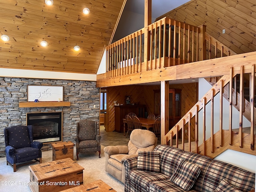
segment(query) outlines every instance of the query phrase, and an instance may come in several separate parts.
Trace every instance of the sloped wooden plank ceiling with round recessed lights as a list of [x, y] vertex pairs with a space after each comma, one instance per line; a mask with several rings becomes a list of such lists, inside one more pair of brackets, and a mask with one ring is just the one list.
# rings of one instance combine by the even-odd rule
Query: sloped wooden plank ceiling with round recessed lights
[[[0, 68], [96, 74], [124, 0], [0, 0]], [[87, 7], [90, 14], [83, 14]], [[40, 42], [48, 42], [47, 47]], [[80, 46], [75, 51], [74, 46]]]

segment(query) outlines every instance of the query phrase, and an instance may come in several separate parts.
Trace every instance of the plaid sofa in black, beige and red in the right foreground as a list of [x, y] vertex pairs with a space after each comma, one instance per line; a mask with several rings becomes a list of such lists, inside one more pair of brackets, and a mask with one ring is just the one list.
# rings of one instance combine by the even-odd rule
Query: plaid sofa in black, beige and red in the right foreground
[[[142, 170], [140, 166], [137, 166], [140, 163], [138, 157], [124, 161], [125, 192], [213, 192], [214, 190], [216, 192], [236, 190], [246, 192], [255, 188], [255, 173], [231, 164], [166, 145], [156, 146], [154, 152], [159, 154], [159, 172]], [[185, 170], [185, 174], [183, 172], [184, 177], [178, 179], [178, 184], [170, 180], [181, 162], [200, 167], [200, 174], [189, 190], [184, 189], [183, 184], [191, 174], [191, 170]]]

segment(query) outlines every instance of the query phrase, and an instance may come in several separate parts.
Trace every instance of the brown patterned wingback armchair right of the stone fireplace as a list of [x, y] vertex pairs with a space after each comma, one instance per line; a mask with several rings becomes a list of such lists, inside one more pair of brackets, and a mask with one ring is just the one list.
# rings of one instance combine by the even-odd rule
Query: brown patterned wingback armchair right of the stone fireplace
[[76, 157], [79, 153], [99, 152], [100, 158], [100, 139], [97, 122], [93, 120], [81, 120], [76, 123]]

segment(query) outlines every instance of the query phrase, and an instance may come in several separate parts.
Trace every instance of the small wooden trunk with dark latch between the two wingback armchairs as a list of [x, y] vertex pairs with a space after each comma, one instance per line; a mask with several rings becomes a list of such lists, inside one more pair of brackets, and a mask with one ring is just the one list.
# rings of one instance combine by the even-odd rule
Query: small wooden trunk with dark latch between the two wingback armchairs
[[52, 160], [64, 158], [74, 160], [74, 143], [71, 141], [52, 143]]

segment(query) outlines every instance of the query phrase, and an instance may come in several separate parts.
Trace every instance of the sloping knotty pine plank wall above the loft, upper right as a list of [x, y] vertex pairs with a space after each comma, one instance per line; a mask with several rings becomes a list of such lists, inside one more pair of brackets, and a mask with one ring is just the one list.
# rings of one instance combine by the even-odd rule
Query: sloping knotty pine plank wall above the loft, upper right
[[237, 54], [256, 51], [255, 1], [192, 0], [160, 18], [165, 16], [195, 26], [206, 25], [208, 34]]

